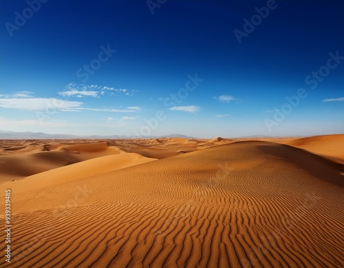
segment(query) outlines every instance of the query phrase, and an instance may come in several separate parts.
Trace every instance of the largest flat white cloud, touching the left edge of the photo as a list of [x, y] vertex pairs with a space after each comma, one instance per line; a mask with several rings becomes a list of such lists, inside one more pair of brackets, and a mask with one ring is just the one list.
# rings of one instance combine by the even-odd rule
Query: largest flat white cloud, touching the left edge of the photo
[[7, 109], [45, 111], [70, 110], [80, 108], [83, 103], [78, 101], [63, 101], [55, 98], [11, 98], [0, 99], [0, 107]]

